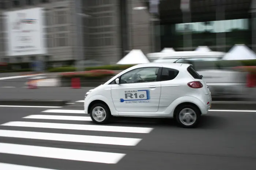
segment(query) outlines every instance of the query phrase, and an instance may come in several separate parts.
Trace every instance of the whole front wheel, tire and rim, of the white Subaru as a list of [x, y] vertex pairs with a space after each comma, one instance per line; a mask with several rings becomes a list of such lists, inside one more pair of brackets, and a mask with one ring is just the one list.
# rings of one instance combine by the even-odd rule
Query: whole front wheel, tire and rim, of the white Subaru
[[104, 104], [94, 104], [90, 109], [90, 116], [93, 122], [104, 124], [109, 121], [111, 116], [110, 110]]

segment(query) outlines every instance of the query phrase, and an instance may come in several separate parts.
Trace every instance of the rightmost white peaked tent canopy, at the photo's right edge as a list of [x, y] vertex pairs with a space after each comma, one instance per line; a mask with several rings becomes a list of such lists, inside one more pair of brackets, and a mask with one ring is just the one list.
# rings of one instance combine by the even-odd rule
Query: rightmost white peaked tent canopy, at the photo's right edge
[[223, 57], [223, 60], [254, 60], [256, 54], [244, 44], [234, 45]]

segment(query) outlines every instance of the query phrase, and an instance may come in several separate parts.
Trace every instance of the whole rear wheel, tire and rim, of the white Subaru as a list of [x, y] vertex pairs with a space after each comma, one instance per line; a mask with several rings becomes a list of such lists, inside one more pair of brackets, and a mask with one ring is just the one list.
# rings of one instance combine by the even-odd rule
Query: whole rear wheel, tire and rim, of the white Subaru
[[176, 110], [176, 121], [181, 127], [195, 127], [199, 121], [200, 115], [198, 108], [185, 105]]

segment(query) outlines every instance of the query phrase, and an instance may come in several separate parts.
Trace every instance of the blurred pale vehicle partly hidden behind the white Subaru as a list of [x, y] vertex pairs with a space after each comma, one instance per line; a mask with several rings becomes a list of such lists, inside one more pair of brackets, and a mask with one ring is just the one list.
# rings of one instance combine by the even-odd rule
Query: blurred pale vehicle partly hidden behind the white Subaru
[[214, 99], [233, 100], [244, 96], [246, 74], [215, 65], [214, 61], [221, 60], [225, 53], [182, 51], [150, 54], [151, 58], [157, 55], [161, 57], [153, 62], [175, 62], [177, 60], [177, 63], [192, 64], [193, 68], [203, 76]]

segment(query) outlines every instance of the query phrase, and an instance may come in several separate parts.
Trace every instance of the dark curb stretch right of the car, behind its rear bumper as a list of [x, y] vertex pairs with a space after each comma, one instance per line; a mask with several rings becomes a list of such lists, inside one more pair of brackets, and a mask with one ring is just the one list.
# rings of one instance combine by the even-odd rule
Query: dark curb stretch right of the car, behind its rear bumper
[[212, 101], [212, 110], [256, 110], [256, 102]]

